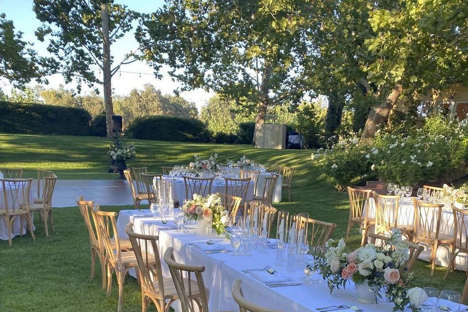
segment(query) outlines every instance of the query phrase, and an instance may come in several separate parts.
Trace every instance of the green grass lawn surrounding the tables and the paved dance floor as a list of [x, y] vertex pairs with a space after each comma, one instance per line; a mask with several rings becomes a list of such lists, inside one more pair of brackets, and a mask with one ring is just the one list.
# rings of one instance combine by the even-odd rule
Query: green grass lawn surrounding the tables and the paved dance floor
[[[320, 168], [311, 160], [311, 151], [259, 150], [249, 145], [203, 144], [134, 140], [137, 159], [129, 166], [148, 166], [151, 172], [160, 172], [160, 166], [187, 164], [193, 154], [219, 158], [239, 158], [246, 155], [258, 162], [292, 166], [292, 202], [283, 201], [274, 206], [291, 214], [308, 212], [312, 218], [334, 222], [338, 226], [334, 238], [344, 236], [348, 218], [348, 196], [331, 186]], [[35, 168], [50, 169], [61, 179], [113, 179], [108, 174], [109, 159], [106, 146], [110, 141], [98, 137], [29, 136], [0, 134], [0, 167], [25, 168], [24, 176], [34, 176]], [[84, 194], [86, 195], [86, 194]], [[287, 200], [287, 192], [283, 193]], [[129, 209], [123, 206], [103, 206], [102, 210]], [[56, 233], [46, 239], [44, 229], [35, 215], [36, 237], [29, 235], [0, 241], [0, 311], [93, 311], [108, 312], [117, 309], [117, 282], [113, 293], [106, 298], [101, 289], [100, 275], [89, 279], [90, 254], [88, 234], [78, 208], [54, 209]], [[349, 245], [360, 242], [354, 228]], [[443, 279], [445, 268], [436, 267], [430, 276], [429, 263], [418, 261], [414, 271], [415, 286], [433, 286], [440, 290], [462, 292], [465, 272], [451, 273]], [[97, 268], [97, 272], [99, 268]], [[140, 290], [132, 277], [124, 286], [124, 311], [141, 311]], [[150, 311], [156, 311], [152, 309]]]

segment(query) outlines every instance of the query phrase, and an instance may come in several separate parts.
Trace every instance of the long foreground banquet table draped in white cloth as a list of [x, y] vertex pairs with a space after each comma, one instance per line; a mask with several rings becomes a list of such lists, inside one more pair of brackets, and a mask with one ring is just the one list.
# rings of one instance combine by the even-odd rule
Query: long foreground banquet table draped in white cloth
[[[158, 247], [164, 277], [170, 277], [168, 268], [162, 260], [162, 256], [168, 247], [174, 247], [176, 261], [205, 266], [206, 271], [203, 273], [203, 279], [208, 288], [210, 311], [238, 311], [238, 306], [234, 302], [231, 293], [236, 278], [242, 279], [242, 290], [247, 299], [271, 309], [288, 312], [312, 312], [318, 307], [347, 304], [364, 309], [366, 312], [390, 312], [393, 310], [393, 304], [384, 302], [384, 300], [381, 300], [377, 305], [366, 305], [357, 302], [354, 287], [350, 284], [347, 285], [346, 290], [334, 290], [332, 294], [330, 294], [326, 283], [311, 286], [270, 288], [254, 279], [250, 274], [241, 272], [242, 270], [263, 268], [269, 264], [276, 271], [288, 274], [292, 281], [300, 282], [299, 279], [304, 276], [302, 267], [295, 268], [293, 272], [287, 272], [284, 266], [274, 266], [275, 251], [272, 249], [267, 249], [266, 254], [260, 254], [258, 251], [253, 250], [252, 256], [248, 257], [233, 257], [231, 253], [205, 254], [189, 244], [206, 242], [212, 239], [216, 243], [227, 245], [228, 249], [231, 248], [229, 243], [222, 237], [200, 236], [177, 233], [175, 230], [164, 230], [164, 228], [173, 228], [174, 224], [170, 222], [162, 224], [160, 220], [150, 216], [149, 211], [120, 211], [117, 218], [117, 230], [122, 238], [128, 237], [125, 234], [125, 226], [128, 222], [134, 223], [136, 233], [159, 235]], [[318, 276], [314, 275], [312, 278], [315, 279]], [[352, 310], [340, 311], [349, 312]]]

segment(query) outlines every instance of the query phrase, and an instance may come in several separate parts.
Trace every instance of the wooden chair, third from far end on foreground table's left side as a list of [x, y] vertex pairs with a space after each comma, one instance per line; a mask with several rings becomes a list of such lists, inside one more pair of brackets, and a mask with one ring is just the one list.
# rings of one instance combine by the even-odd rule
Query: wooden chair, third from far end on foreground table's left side
[[[146, 311], [151, 300], [156, 305], [157, 312], [169, 311], [171, 304], [178, 299], [178, 295], [172, 278], [163, 278], [157, 246], [158, 236], [137, 234], [133, 231], [132, 223], [127, 224], [125, 232], [130, 237], [138, 262], [141, 284], [141, 310]], [[142, 250], [152, 250], [153, 253], [143, 254]]]

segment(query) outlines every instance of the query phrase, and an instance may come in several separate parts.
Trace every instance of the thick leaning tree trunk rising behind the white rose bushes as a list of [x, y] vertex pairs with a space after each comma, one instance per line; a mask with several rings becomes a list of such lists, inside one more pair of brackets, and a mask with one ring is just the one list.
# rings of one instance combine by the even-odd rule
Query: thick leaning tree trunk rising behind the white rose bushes
[[401, 91], [402, 85], [397, 83], [391, 90], [385, 102], [372, 107], [369, 113], [369, 117], [367, 117], [361, 140], [367, 140], [374, 137], [377, 130], [383, 127], [384, 122], [389, 117], [390, 111], [400, 96]]

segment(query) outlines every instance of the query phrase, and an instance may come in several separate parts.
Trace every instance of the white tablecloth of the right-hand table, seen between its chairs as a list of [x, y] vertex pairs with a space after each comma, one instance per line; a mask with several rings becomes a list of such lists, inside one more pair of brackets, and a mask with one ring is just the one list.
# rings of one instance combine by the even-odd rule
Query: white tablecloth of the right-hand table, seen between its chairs
[[[400, 199], [398, 208], [398, 224], [404, 225], [413, 225], [414, 223], [414, 205], [412, 203], [412, 198], [410, 199]], [[392, 207], [394, 208], [394, 207]], [[371, 218], [375, 217], [375, 201], [374, 198], [370, 198], [369, 205], [370, 214], [368, 215]], [[460, 220], [459, 223], [464, 222], [468, 225], [468, 218], [465, 220]], [[435, 224], [434, 224], [435, 225]], [[370, 232], [373, 232], [373, 226], [370, 228]], [[434, 228], [435, 231], [435, 228]], [[442, 208], [442, 215], [440, 221], [440, 233], [453, 235], [454, 231], [454, 218], [451, 208]], [[466, 237], [465, 237], [466, 239]], [[464, 240], [465, 241], [465, 240]], [[424, 242], [419, 243], [421, 246], [424, 246], [424, 251], [419, 255], [419, 259], [428, 261], [430, 259], [430, 247]], [[447, 245], [439, 246], [437, 249], [437, 258], [435, 263], [444, 267], [448, 267], [448, 262], [450, 260], [450, 247]], [[458, 270], [467, 271], [468, 265], [468, 255], [459, 254], [455, 259], [455, 268]]]

